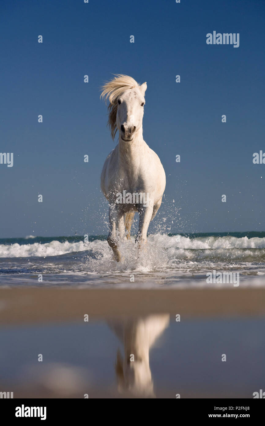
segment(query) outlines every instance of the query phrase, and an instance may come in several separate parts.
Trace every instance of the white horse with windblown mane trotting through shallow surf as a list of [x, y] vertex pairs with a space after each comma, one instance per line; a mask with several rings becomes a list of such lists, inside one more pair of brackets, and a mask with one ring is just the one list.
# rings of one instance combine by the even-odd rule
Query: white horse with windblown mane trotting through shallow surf
[[[101, 94], [110, 101], [108, 124], [113, 140], [119, 131], [119, 143], [106, 158], [101, 173], [101, 189], [109, 202], [108, 244], [117, 262], [121, 260], [118, 239], [125, 237], [125, 230], [130, 238], [134, 213], [138, 211], [140, 216], [135, 242], [142, 246], [165, 190], [160, 159], [142, 137], [146, 88], [146, 83], [139, 85], [128, 75], [118, 74], [105, 83]], [[123, 201], [120, 194], [125, 195]]]

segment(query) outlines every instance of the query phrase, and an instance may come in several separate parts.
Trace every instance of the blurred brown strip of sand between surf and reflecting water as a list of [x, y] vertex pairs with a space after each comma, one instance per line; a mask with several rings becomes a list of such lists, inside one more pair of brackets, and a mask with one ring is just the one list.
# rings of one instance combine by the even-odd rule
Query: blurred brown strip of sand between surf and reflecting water
[[0, 324], [63, 322], [168, 312], [185, 317], [262, 316], [264, 288], [123, 290], [1, 288]]

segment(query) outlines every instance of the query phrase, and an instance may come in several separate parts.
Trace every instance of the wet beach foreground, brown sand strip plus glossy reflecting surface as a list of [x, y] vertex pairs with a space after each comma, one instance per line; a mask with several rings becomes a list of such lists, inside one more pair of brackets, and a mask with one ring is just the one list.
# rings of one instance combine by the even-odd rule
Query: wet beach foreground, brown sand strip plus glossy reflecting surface
[[2, 288], [0, 391], [14, 398], [253, 397], [265, 372], [264, 301], [264, 288], [241, 284], [218, 291]]

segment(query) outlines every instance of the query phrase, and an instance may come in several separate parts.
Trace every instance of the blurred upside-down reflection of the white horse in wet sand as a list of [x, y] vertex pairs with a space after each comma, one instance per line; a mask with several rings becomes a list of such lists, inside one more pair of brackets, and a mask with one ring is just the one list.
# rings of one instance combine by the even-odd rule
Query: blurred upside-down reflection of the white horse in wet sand
[[123, 322], [109, 322], [123, 344], [124, 357], [117, 352], [118, 391], [128, 396], [155, 397], [149, 366], [149, 350], [169, 325], [169, 314], [148, 315]]

